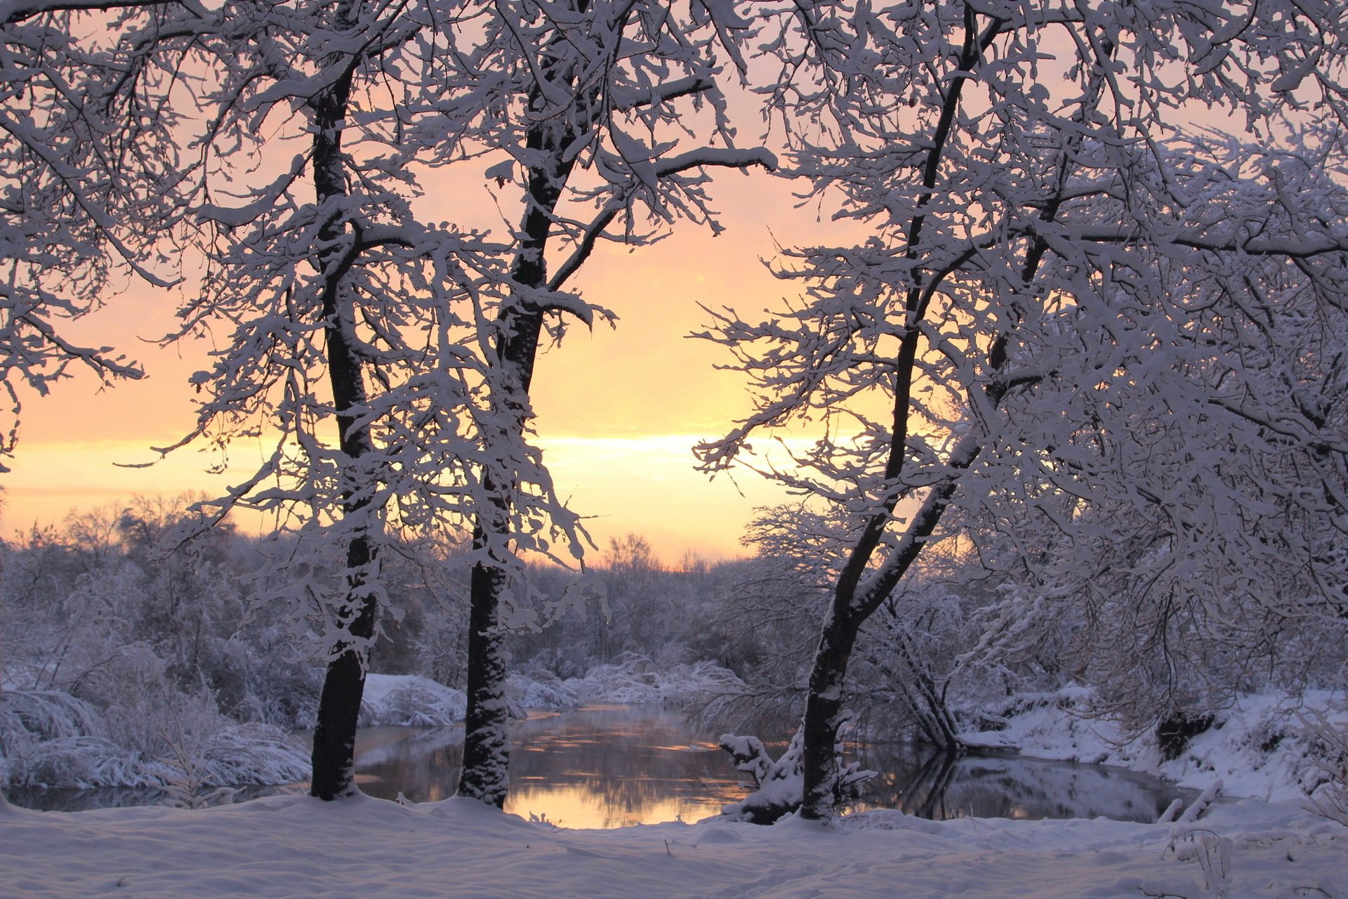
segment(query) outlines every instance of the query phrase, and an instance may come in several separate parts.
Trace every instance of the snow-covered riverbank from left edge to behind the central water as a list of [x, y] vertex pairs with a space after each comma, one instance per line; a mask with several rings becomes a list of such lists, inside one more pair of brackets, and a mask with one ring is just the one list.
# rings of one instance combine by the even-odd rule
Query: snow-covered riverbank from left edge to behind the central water
[[[655, 669], [628, 659], [565, 681], [512, 674], [507, 698], [512, 717], [523, 718], [528, 709], [681, 704], [732, 682], [737, 683], [733, 674], [705, 662]], [[461, 722], [466, 705], [462, 690], [430, 678], [371, 673], [360, 724], [443, 728]], [[100, 710], [57, 690], [0, 694], [0, 787], [158, 787], [182, 779], [206, 787], [290, 783], [309, 776], [309, 752], [301, 744], [280, 728], [231, 720], [189, 695]]]

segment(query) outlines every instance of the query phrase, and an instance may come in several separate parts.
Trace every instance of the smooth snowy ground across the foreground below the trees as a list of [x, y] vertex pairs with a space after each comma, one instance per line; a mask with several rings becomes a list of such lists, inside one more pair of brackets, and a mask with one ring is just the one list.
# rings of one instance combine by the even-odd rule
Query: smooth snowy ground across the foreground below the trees
[[70, 896], [1328, 896], [1348, 828], [1240, 802], [1197, 825], [894, 811], [826, 830], [708, 821], [558, 830], [464, 799], [270, 797], [208, 810], [0, 805], [0, 895]]

